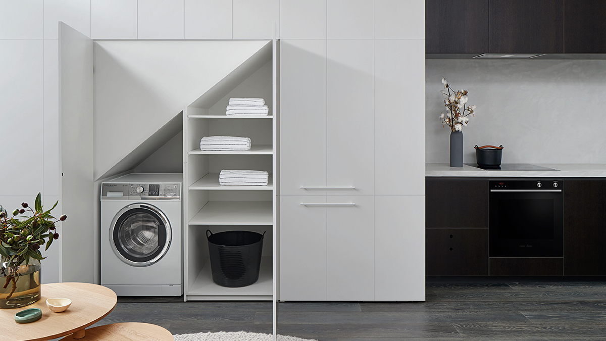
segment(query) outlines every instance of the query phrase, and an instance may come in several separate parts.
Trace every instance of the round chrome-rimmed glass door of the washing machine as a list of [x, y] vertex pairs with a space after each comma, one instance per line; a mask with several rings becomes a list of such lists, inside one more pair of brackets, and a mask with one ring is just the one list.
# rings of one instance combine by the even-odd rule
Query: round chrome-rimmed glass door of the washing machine
[[110, 226], [110, 245], [122, 262], [132, 266], [149, 266], [168, 251], [170, 223], [156, 206], [130, 204], [122, 208]]

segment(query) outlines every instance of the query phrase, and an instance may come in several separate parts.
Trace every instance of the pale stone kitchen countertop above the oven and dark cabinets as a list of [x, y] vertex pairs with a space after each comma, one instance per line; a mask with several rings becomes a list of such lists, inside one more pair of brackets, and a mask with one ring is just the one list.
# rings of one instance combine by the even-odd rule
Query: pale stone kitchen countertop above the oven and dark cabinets
[[463, 164], [426, 163], [425, 177], [524, 177], [524, 178], [606, 178], [604, 163], [533, 163], [558, 170], [484, 170]]

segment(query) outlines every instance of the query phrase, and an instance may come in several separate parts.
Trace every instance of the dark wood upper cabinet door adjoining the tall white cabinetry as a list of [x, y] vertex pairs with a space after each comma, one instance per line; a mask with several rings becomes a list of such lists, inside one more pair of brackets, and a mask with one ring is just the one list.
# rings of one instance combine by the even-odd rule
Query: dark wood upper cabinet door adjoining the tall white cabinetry
[[488, 52], [488, 0], [425, 0], [425, 52]]

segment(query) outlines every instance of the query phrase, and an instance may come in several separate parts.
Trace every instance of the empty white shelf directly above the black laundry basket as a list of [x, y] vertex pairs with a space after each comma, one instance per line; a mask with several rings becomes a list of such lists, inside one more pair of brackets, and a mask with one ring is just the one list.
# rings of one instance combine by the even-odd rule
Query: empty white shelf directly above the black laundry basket
[[189, 225], [273, 225], [271, 201], [208, 201]]

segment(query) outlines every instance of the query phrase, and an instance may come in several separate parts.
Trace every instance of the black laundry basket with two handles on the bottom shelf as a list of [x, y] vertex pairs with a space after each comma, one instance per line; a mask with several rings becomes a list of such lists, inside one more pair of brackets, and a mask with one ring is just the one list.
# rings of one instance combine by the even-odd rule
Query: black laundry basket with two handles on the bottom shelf
[[213, 234], [206, 230], [213, 282], [228, 288], [257, 282], [264, 236], [265, 232], [225, 231]]

